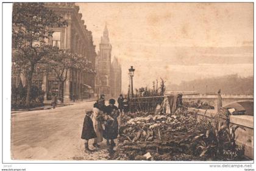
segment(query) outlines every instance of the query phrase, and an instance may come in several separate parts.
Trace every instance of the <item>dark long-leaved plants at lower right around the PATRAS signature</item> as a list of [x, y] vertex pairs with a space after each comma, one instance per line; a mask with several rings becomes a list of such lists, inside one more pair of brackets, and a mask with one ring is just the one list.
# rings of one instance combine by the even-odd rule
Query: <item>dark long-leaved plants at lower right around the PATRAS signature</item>
[[[243, 150], [236, 145], [235, 131], [242, 127], [229, 127], [227, 117], [224, 118], [225, 111], [220, 111], [217, 116], [209, 120], [203, 117], [197, 122], [193, 141], [195, 147], [194, 155], [209, 156], [213, 159], [221, 160], [239, 160], [243, 156]], [[242, 128], [243, 129], [243, 128]], [[225, 152], [232, 153], [225, 153]]]

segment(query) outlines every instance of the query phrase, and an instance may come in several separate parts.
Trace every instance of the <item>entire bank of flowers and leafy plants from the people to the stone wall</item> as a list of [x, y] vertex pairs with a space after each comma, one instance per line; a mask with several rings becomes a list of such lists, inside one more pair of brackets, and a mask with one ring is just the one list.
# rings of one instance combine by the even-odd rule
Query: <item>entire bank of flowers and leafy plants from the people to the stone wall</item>
[[[238, 127], [229, 131], [222, 114], [209, 121], [186, 108], [178, 108], [172, 115], [128, 113], [123, 116], [111, 159], [147, 160], [144, 155], [150, 153], [148, 160], [244, 160], [243, 147], [235, 144]], [[234, 153], [226, 155], [223, 150]]]

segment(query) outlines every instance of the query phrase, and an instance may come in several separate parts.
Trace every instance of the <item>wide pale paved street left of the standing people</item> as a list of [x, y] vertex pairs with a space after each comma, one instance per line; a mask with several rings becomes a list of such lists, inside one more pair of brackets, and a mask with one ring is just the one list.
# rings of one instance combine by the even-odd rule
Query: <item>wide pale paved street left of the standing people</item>
[[[12, 114], [12, 159], [98, 160], [107, 159], [105, 141], [92, 154], [84, 152], [80, 138], [84, 111], [94, 102], [80, 102], [54, 110]], [[93, 148], [90, 141], [90, 148]]]

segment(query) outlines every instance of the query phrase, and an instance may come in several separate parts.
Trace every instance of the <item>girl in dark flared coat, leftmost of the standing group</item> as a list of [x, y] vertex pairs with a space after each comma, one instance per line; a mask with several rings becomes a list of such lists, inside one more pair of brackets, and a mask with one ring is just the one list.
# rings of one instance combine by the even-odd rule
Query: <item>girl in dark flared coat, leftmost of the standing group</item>
[[85, 139], [85, 152], [91, 152], [88, 142], [89, 139], [97, 138], [96, 133], [93, 128], [93, 120], [91, 120], [91, 113], [92, 111], [89, 111], [85, 114], [85, 119], [84, 119], [84, 125], [83, 125], [83, 130], [82, 130], [82, 135], [81, 138]]

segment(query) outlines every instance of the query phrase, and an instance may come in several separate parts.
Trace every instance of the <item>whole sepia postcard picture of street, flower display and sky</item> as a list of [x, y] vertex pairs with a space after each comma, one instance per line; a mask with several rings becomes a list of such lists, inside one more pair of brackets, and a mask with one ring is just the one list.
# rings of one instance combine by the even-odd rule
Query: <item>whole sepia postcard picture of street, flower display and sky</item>
[[10, 161], [254, 170], [254, 2], [10, 5]]

